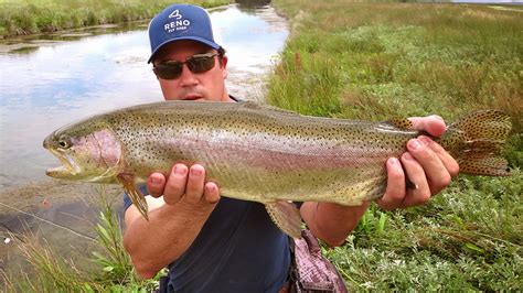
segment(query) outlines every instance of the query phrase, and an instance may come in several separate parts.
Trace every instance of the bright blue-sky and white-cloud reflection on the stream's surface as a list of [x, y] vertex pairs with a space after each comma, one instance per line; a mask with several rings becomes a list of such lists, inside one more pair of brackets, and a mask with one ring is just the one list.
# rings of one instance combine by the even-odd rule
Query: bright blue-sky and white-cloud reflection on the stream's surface
[[[211, 18], [230, 56], [230, 91], [257, 99], [288, 32], [270, 7], [253, 11], [231, 6]], [[0, 187], [45, 178], [57, 161], [41, 143], [57, 127], [162, 99], [146, 30], [138, 22], [0, 43]]]

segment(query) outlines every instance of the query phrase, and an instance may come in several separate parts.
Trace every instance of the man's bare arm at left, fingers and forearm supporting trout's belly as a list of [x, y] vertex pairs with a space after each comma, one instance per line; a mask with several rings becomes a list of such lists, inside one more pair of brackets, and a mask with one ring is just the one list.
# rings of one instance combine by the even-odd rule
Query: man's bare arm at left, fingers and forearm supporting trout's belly
[[135, 206], [126, 210], [124, 246], [140, 276], [154, 276], [185, 252], [200, 234], [220, 199], [216, 184], [204, 178], [201, 165], [188, 170], [177, 164], [167, 178], [151, 174], [148, 189], [153, 197], [163, 195], [164, 203], [151, 206], [149, 221]]

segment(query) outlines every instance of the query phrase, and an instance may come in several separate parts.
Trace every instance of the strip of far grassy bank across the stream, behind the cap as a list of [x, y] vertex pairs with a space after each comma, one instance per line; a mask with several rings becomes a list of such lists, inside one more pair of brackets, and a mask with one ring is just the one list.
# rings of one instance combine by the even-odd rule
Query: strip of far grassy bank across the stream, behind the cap
[[[205, 8], [228, 4], [227, 0], [183, 1]], [[88, 25], [152, 18], [172, 4], [168, 0], [0, 0], [0, 36], [47, 33]]]

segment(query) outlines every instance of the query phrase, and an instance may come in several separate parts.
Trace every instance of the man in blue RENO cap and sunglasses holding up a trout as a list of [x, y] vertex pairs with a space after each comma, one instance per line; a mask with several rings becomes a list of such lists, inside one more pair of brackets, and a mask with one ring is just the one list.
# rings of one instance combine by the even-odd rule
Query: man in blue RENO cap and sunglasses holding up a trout
[[[227, 56], [214, 42], [203, 9], [167, 8], [151, 21], [149, 36], [149, 62], [167, 100], [235, 101], [224, 84]], [[433, 135], [446, 129], [438, 117], [412, 120]], [[387, 188], [378, 200], [384, 209], [424, 204], [458, 173], [453, 159], [428, 138], [410, 140], [407, 150], [399, 160], [387, 161]], [[405, 176], [416, 189], [405, 187]], [[278, 292], [284, 286], [288, 238], [263, 205], [221, 198], [200, 164], [178, 163], [167, 176], [151, 174], [147, 188], [153, 197], [148, 199], [149, 221], [129, 200], [125, 214], [124, 243], [141, 276], [152, 278], [169, 267], [168, 289], [182, 292]], [[367, 207], [303, 203], [300, 214], [316, 237], [340, 246]]]

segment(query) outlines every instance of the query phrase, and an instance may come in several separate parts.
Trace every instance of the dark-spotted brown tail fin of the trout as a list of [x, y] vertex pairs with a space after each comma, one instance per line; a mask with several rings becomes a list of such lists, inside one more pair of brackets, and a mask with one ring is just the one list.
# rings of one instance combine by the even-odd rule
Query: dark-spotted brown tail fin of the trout
[[450, 124], [440, 143], [456, 159], [460, 173], [508, 176], [508, 162], [501, 150], [511, 129], [506, 113], [476, 111]]

